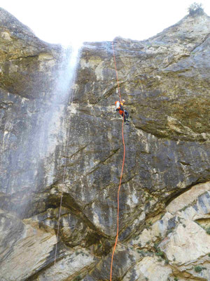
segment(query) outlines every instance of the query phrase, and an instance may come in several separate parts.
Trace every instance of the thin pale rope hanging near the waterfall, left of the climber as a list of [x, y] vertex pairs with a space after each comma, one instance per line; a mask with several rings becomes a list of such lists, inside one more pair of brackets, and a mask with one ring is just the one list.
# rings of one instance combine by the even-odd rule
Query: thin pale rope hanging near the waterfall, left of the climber
[[[73, 94], [71, 95], [70, 98], [70, 103], [71, 105], [73, 100]], [[62, 198], [63, 198], [63, 185], [65, 181], [65, 176], [66, 176], [66, 159], [67, 159], [67, 152], [68, 152], [68, 146], [69, 146], [69, 133], [70, 133], [70, 124], [71, 124], [71, 115], [69, 117], [69, 126], [68, 126], [68, 131], [67, 131], [67, 136], [66, 136], [66, 151], [65, 151], [65, 159], [64, 159], [64, 172], [63, 172], [63, 178], [62, 178], [62, 190], [61, 190], [61, 197], [60, 197], [60, 204], [59, 204], [59, 216], [58, 216], [58, 223], [57, 223], [57, 242], [55, 245], [55, 259], [54, 259], [54, 264], [56, 263], [56, 257], [57, 257], [57, 243], [58, 243], [58, 235], [59, 235], [59, 222], [60, 222], [60, 217], [61, 217], [61, 211], [62, 211]]]

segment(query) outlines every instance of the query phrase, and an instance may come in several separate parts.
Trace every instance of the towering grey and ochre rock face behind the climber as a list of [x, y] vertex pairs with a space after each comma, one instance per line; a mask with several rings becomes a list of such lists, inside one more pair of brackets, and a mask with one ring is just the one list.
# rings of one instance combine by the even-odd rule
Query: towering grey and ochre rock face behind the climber
[[[70, 91], [71, 50], [3, 9], [0, 32], [0, 279], [109, 280], [123, 160], [112, 45], [84, 44]], [[210, 18], [114, 48], [130, 125], [113, 280], [210, 280]]]

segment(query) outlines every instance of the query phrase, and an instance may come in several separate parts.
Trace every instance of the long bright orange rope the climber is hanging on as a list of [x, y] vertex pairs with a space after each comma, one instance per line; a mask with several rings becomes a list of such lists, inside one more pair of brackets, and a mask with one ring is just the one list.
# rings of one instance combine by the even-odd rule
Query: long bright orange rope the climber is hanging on
[[[113, 42], [112, 42], [112, 48], [113, 48], [113, 59], [114, 59], [114, 62], [115, 62], [115, 67], [116, 67], [116, 78], [117, 78], [117, 81], [118, 81], [118, 93], [119, 93], [119, 97], [120, 97], [120, 101], [121, 101], [120, 84], [119, 84], [119, 80], [118, 80], [118, 70], [117, 70], [117, 65], [116, 65], [116, 55], [115, 55], [115, 51], [114, 51]], [[123, 138], [123, 149], [124, 149], [124, 152], [123, 152], [123, 165], [122, 165], [122, 169], [121, 169], [120, 183], [119, 183], [119, 187], [118, 187], [117, 234], [116, 234], [116, 242], [115, 242], [115, 244], [114, 244], [113, 252], [112, 252], [112, 256], [111, 256], [110, 281], [111, 281], [111, 277], [112, 277], [113, 256], [114, 256], [114, 254], [115, 254], [116, 246], [117, 246], [117, 243], [118, 243], [118, 233], [119, 233], [119, 210], [120, 210], [120, 187], [121, 187], [121, 183], [122, 183], [123, 169], [124, 169], [124, 164], [125, 164], [125, 141], [124, 141], [124, 132], [123, 132], [124, 115], [125, 115], [125, 112], [123, 112], [123, 122], [122, 122], [122, 138]]]

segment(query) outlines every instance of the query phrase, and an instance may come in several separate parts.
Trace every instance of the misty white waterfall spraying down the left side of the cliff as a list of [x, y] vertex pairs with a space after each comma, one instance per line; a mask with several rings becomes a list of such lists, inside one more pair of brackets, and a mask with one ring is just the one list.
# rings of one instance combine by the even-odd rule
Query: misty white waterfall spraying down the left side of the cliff
[[[45, 89], [42, 98], [14, 98], [8, 93], [21, 116], [17, 117], [15, 112], [11, 112], [10, 115], [14, 115], [11, 118], [13, 123], [10, 121], [5, 125], [0, 192], [10, 199], [6, 209], [22, 217], [26, 209], [27, 212], [29, 210], [32, 194], [44, 190], [55, 180], [56, 153], [59, 151], [61, 154], [66, 143], [69, 124], [66, 124], [65, 115], [73, 95], [79, 49], [78, 46], [62, 48], [62, 63], [53, 73], [56, 83], [50, 93]], [[19, 131], [15, 134], [16, 124]], [[27, 216], [30, 215], [29, 212]]]

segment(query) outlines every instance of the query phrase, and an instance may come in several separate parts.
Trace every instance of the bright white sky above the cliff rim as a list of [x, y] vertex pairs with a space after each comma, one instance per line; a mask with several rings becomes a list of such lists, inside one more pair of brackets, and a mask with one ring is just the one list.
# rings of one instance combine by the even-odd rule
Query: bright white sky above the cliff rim
[[[0, 0], [43, 41], [80, 44], [115, 37], [144, 40], [188, 14], [192, 0]], [[203, 4], [210, 15], [210, 1]]]

